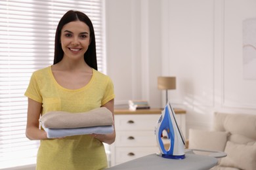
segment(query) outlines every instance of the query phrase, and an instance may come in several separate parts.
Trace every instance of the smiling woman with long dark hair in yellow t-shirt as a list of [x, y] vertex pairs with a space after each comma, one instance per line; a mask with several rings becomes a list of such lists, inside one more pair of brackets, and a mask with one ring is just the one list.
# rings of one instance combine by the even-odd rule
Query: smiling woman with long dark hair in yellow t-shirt
[[106, 107], [114, 112], [112, 80], [97, 71], [91, 20], [82, 12], [66, 12], [56, 29], [54, 50], [54, 65], [35, 71], [25, 93], [26, 136], [41, 140], [37, 169], [104, 169], [107, 160], [102, 143], [114, 143], [115, 131], [107, 135], [47, 139], [47, 133], [39, 128], [40, 115], [49, 111], [77, 113]]

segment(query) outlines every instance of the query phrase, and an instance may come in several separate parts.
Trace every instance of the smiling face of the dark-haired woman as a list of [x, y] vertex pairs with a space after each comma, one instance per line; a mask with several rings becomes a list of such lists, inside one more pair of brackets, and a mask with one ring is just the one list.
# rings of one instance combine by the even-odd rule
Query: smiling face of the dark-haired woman
[[64, 57], [81, 59], [90, 44], [90, 29], [81, 21], [69, 22], [61, 30], [60, 42]]

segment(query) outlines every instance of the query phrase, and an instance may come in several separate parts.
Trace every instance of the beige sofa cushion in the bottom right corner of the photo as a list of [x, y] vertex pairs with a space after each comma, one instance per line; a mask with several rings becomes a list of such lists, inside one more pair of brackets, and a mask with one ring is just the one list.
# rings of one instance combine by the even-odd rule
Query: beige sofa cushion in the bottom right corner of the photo
[[245, 170], [255, 170], [256, 143], [236, 144], [228, 141], [224, 150], [228, 156], [221, 159], [219, 165], [238, 167]]

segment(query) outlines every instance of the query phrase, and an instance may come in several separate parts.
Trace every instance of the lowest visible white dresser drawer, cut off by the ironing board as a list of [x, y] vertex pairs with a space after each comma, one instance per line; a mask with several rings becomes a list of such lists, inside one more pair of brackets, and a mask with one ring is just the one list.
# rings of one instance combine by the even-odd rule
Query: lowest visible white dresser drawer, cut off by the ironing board
[[116, 164], [159, 152], [158, 147], [116, 147]]

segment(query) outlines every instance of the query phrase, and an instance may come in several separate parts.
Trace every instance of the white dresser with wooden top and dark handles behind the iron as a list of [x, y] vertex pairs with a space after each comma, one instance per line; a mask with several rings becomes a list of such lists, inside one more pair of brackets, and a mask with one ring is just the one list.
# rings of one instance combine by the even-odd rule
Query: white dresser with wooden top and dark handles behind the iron
[[[177, 123], [186, 136], [186, 111], [174, 109]], [[159, 151], [155, 126], [161, 109], [115, 110], [116, 141], [110, 145], [110, 166]]]

